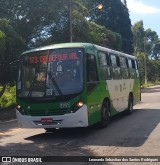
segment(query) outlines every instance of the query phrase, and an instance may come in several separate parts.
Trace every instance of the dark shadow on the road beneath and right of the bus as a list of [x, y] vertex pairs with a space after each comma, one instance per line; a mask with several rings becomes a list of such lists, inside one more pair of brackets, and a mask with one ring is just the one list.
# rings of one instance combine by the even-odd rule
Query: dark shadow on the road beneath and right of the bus
[[75, 141], [75, 145], [121, 146], [138, 147], [145, 143], [150, 133], [160, 122], [160, 110], [135, 110], [130, 116], [118, 115], [111, 121], [110, 126], [98, 129], [96, 126], [79, 129], [59, 129], [53, 133], [42, 133], [26, 138], [35, 143], [49, 141], [66, 143]]

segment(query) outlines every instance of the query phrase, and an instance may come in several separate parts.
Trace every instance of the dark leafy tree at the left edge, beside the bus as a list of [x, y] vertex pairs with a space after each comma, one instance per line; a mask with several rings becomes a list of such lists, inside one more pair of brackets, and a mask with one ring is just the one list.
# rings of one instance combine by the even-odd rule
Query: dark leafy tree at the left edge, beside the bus
[[5, 91], [6, 84], [14, 81], [11, 79], [10, 63], [17, 60], [23, 48], [23, 41], [6, 19], [0, 19], [0, 97]]

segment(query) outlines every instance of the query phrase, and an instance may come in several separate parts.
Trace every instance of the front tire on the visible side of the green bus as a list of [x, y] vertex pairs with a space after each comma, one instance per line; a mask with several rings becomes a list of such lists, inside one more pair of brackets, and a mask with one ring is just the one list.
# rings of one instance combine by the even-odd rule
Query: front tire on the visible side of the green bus
[[100, 127], [105, 128], [110, 123], [110, 117], [109, 117], [109, 102], [104, 101], [101, 108], [101, 121], [100, 121]]

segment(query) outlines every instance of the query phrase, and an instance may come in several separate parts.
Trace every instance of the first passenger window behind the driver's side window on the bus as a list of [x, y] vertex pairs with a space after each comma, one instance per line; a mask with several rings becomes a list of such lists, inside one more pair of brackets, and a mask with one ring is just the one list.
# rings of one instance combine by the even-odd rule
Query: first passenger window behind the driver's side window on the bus
[[99, 57], [99, 65], [100, 65], [100, 75], [103, 80], [110, 79], [111, 74], [110, 74], [110, 61], [108, 54], [105, 52], [98, 52], [98, 57]]

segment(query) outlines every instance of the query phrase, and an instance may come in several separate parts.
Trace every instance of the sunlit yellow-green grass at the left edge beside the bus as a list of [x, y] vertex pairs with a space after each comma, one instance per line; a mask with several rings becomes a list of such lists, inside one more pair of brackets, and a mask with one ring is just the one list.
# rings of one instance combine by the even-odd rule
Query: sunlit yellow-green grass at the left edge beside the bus
[[16, 87], [7, 86], [3, 96], [0, 98], [0, 109], [11, 108], [14, 107], [15, 105], [16, 105]]

